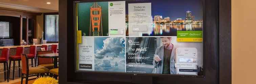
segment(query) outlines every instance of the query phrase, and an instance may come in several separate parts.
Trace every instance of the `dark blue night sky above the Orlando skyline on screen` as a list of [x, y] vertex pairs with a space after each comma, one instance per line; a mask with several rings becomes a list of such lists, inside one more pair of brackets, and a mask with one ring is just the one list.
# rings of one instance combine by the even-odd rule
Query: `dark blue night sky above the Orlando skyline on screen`
[[[129, 3], [138, 3], [138, 1], [127, 1], [126, 6]], [[201, 0], [166, 0], [164, 3], [157, 0], [148, 0], [140, 1], [139, 3], [151, 3], [153, 18], [156, 15], [161, 15], [163, 18], [170, 17], [172, 21], [177, 18], [185, 19], [186, 11], [191, 11], [195, 16], [194, 20], [203, 19], [203, 4]], [[126, 11], [126, 14], [128, 14], [128, 11]]]

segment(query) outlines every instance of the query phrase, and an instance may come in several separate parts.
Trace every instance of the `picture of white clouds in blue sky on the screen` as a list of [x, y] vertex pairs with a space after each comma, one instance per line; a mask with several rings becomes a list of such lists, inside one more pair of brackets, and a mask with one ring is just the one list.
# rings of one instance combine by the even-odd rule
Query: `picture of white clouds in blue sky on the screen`
[[125, 39], [94, 38], [95, 71], [125, 72]]

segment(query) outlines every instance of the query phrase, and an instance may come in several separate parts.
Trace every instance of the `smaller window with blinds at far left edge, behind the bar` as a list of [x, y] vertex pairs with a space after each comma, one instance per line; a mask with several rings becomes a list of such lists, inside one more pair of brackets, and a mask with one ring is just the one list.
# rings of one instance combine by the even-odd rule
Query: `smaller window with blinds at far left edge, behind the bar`
[[0, 22], [0, 38], [9, 38], [9, 22]]

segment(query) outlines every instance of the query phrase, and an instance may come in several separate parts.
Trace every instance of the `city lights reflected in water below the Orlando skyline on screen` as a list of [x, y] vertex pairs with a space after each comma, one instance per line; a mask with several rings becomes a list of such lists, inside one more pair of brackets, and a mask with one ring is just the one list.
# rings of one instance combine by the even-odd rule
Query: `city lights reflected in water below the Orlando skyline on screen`
[[176, 36], [177, 31], [202, 31], [202, 24], [153, 24], [144, 36]]

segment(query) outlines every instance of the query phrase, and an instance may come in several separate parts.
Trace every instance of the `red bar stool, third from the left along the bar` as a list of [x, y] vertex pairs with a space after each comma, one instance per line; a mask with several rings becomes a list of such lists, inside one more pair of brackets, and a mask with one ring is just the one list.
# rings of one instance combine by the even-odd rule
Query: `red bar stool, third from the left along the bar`
[[[31, 45], [29, 47], [29, 54], [27, 54], [27, 58], [31, 59], [31, 66], [35, 66], [37, 64], [37, 56], [36, 56], [36, 52], [37, 52], [37, 46]], [[35, 60], [35, 64], [33, 65], [33, 59]]]

